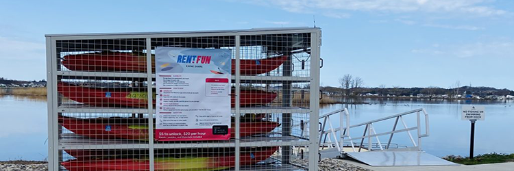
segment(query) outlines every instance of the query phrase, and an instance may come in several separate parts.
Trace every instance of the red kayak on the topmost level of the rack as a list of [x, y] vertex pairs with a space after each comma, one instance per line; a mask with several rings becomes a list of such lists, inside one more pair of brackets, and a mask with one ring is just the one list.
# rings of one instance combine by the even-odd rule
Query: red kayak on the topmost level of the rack
[[[241, 75], [260, 75], [278, 68], [287, 60], [286, 55], [270, 57], [262, 60], [240, 60]], [[75, 71], [121, 71], [146, 72], [146, 53], [126, 53], [102, 51], [99, 53], [82, 53], [66, 55], [62, 64], [69, 70]], [[155, 68], [155, 58], [152, 58], [152, 68]], [[236, 62], [232, 60], [232, 74], [236, 73]]]

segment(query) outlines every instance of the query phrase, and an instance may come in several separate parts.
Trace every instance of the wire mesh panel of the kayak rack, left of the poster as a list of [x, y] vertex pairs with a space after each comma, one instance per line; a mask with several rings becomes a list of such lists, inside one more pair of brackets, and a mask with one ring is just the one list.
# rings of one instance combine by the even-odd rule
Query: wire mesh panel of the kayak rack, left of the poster
[[149, 168], [146, 42], [57, 40], [61, 170]]

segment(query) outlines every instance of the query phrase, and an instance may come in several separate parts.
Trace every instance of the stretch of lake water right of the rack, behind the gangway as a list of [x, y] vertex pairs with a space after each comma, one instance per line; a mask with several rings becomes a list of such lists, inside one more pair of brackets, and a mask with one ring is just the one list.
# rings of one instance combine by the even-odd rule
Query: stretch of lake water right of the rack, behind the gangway
[[[476, 121], [474, 155], [483, 153], [514, 153], [514, 121], [513, 101], [443, 101], [443, 100], [382, 100], [376, 98], [364, 98], [361, 101], [370, 105], [325, 105], [320, 114], [326, 114], [341, 107], [347, 107], [350, 111], [350, 125], [375, 120], [404, 111], [424, 108], [429, 116], [430, 136], [423, 137], [422, 150], [432, 155], [443, 157], [445, 155], [469, 155], [469, 137], [471, 124], [467, 120], [461, 120], [462, 105], [485, 105], [485, 121]], [[338, 116], [339, 117], [339, 116]], [[339, 118], [338, 118], [339, 119]], [[395, 120], [374, 125], [377, 133], [391, 131]], [[415, 127], [415, 114], [405, 118], [408, 127]], [[423, 120], [421, 120], [423, 122]], [[338, 125], [339, 126], [339, 125]], [[336, 125], [334, 124], [334, 127]], [[424, 125], [422, 125], [424, 127]], [[397, 129], [403, 129], [398, 124]], [[364, 129], [364, 127], [362, 127]], [[353, 131], [353, 130], [352, 130]], [[362, 136], [362, 131], [350, 132], [352, 137]], [[413, 136], [416, 131], [411, 131]], [[387, 142], [389, 136], [380, 137], [380, 142]], [[416, 137], [414, 137], [416, 140]], [[367, 140], [365, 140], [366, 142]], [[373, 140], [376, 142], [376, 139]], [[397, 133], [392, 142], [412, 146], [412, 142], [406, 133]]]

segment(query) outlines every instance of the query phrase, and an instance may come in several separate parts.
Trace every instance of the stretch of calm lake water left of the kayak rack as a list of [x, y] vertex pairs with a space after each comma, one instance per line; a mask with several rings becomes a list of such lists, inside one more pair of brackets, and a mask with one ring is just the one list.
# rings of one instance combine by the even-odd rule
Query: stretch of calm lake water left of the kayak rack
[[48, 156], [46, 97], [0, 96], [0, 161]]

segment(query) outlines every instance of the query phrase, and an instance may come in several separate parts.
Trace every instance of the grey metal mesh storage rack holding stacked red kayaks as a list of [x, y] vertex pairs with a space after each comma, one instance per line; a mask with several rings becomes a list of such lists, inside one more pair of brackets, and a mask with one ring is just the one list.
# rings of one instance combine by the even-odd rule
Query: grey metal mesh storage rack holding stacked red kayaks
[[[317, 170], [319, 28], [46, 38], [49, 170]], [[155, 140], [156, 47], [232, 52], [230, 140]]]

